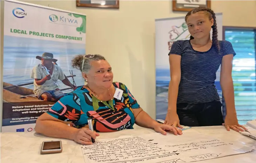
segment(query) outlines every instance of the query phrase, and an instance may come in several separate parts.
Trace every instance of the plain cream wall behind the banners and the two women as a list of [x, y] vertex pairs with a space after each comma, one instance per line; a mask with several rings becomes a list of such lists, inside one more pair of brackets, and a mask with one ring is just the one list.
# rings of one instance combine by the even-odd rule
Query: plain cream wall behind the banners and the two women
[[[119, 9], [76, 7], [74, 0], [25, 2], [86, 14], [87, 54], [104, 55], [113, 67], [114, 81], [125, 83], [141, 107], [155, 117], [155, 19], [186, 12], [173, 12], [172, 1], [166, 0], [121, 0]], [[214, 0], [211, 8], [223, 13], [223, 26], [256, 27], [255, 1]]]

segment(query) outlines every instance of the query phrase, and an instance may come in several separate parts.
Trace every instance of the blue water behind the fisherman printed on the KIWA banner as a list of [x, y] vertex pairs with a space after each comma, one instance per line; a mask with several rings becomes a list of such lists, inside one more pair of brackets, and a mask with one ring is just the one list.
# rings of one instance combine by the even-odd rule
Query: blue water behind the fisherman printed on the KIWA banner
[[[59, 41], [49, 41], [31, 38], [21, 38], [14, 36], [4, 36], [4, 69], [3, 81], [11, 84], [22, 84], [33, 82], [30, 78], [34, 66], [41, 63], [36, 59], [37, 55], [42, 56], [44, 52], [53, 53], [53, 57], [58, 59], [56, 62], [61, 67], [66, 76], [73, 71], [74, 81], [77, 86], [84, 84], [80, 70], [72, 68], [71, 60], [75, 55], [84, 55], [85, 44], [68, 43]], [[69, 72], [70, 71], [70, 72]], [[68, 78], [73, 83], [72, 77]], [[68, 88], [61, 81], [58, 81], [60, 89]], [[34, 89], [33, 84], [23, 86]], [[64, 90], [67, 93], [72, 89]]]

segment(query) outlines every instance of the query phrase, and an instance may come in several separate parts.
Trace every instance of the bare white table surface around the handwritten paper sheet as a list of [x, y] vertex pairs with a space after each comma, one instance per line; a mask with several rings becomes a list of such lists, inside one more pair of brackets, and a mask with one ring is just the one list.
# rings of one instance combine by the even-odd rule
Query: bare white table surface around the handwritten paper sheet
[[[124, 135], [142, 135], [155, 133], [154, 130], [141, 128], [135, 125], [135, 129], [116, 131], [113, 133], [100, 133], [97, 140], [117, 138]], [[211, 135], [222, 140], [242, 141], [244, 143], [256, 143], [256, 140], [243, 136], [236, 131], [227, 131], [223, 126], [194, 127], [200, 133]], [[186, 130], [183, 135], [186, 136]], [[46, 137], [32, 132], [1, 133], [1, 163], [84, 163], [81, 147], [78, 143], [66, 140]], [[43, 141], [61, 140], [62, 153], [40, 155]], [[198, 163], [256, 163], [256, 152], [226, 156], [221, 158], [198, 161]]]

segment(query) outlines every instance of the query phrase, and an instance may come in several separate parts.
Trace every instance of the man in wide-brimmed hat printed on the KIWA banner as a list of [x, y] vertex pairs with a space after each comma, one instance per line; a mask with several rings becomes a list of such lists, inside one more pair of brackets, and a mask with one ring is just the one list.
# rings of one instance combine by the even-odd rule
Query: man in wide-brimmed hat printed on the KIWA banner
[[56, 65], [57, 59], [53, 58], [52, 53], [43, 53], [42, 56], [36, 56], [36, 59], [41, 60], [41, 63], [33, 68], [31, 78], [34, 79], [34, 94], [40, 100], [58, 101], [65, 96], [59, 89], [58, 79], [73, 90], [77, 88], [69, 82], [62, 69]]

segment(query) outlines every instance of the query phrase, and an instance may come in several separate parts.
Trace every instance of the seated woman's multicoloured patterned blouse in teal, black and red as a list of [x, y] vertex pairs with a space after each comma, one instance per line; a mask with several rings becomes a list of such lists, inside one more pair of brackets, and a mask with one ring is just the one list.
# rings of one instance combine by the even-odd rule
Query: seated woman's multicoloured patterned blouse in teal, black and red
[[83, 86], [62, 97], [47, 113], [62, 121], [72, 121], [70, 124], [76, 128], [88, 128], [87, 118], [92, 117], [96, 132], [133, 129], [132, 109], [140, 106], [124, 84], [113, 82], [113, 85], [123, 90], [121, 100], [100, 101]]

